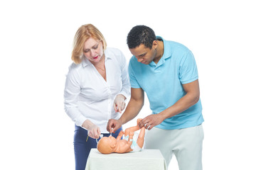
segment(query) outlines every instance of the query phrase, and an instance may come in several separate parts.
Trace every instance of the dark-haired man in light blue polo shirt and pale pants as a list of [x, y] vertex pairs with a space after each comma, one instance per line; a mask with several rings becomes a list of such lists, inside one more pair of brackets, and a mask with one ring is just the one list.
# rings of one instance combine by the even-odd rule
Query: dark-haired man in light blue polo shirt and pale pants
[[147, 132], [145, 149], [160, 149], [169, 165], [175, 154], [179, 169], [202, 169], [203, 115], [198, 70], [191, 50], [164, 40], [147, 26], [135, 26], [127, 36], [131, 99], [119, 120], [110, 119], [115, 132], [135, 118], [149, 98], [151, 115], [139, 123]]

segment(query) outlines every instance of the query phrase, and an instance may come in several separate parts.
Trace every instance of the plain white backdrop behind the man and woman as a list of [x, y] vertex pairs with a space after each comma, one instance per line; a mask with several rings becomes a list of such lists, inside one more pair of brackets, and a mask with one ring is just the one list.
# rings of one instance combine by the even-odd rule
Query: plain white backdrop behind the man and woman
[[[73, 37], [85, 23], [127, 61], [126, 36], [136, 25], [190, 48], [205, 118], [203, 168], [256, 169], [255, 16], [249, 0], [1, 1], [0, 169], [74, 169], [63, 89]], [[146, 101], [139, 117], [149, 114]], [[169, 169], [178, 169], [175, 158]]]

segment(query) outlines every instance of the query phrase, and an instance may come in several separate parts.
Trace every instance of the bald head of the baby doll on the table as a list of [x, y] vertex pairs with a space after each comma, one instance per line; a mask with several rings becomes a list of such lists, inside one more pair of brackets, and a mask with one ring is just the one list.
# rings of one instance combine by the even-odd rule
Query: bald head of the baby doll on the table
[[110, 154], [114, 152], [114, 149], [117, 144], [117, 139], [110, 137], [102, 137], [100, 141], [97, 143], [97, 149], [102, 154]]

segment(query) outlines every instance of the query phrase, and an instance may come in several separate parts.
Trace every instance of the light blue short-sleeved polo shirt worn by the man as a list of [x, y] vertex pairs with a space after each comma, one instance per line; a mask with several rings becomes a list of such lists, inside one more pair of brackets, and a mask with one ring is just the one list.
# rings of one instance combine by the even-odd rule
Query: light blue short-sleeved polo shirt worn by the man
[[[157, 64], [142, 64], [132, 56], [129, 61], [129, 79], [132, 88], [142, 88], [149, 98], [153, 114], [174, 105], [186, 92], [182, 84], [198, 79], [193, 54], [178, 42], [164, 41], [164, 55]], [[203, 123], [201, 100], [186, 111], [164, 120], [156, 128], [165, 130], [190, 128]]]

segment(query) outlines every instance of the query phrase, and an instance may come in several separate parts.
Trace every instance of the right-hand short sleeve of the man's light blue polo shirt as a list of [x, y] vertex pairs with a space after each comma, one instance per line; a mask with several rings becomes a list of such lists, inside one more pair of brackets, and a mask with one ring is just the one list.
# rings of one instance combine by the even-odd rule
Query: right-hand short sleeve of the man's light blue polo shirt
[[198, 79], [196, 60], [191, 51], [186, 52], [183, 57], [181, 57], [179, 79], [181, 84], [188, 84]]

